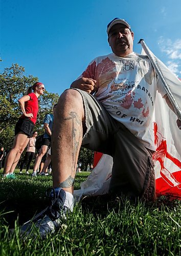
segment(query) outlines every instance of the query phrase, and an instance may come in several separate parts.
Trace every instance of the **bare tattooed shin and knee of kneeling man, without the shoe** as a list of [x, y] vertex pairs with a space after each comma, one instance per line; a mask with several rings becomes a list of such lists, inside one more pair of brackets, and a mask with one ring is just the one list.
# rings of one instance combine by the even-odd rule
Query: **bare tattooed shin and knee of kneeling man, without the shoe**
[[53, 187], [73, 193], [76, 165], [82, 143], [84, 107], [80, 93], [67, 90], [59, 98], [52, 132]]

